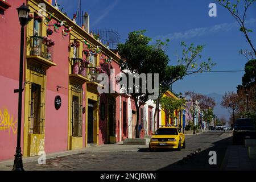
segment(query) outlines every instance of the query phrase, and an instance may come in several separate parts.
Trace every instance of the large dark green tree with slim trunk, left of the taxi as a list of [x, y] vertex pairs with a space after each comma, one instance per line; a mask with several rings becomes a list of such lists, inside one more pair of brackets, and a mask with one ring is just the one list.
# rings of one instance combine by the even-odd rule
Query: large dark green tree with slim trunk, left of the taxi
[[[156, 44], [155, 46], [149, 45], [151, 39], [144, 36], [144, 32], [145, 31], [130, 32], [126, 42], [124, 44], [118, 44], [117, 49], [121, 56], [121, 59], [119, 60], [120, 67], [122, 71], [128, 71], [128, 75], [158, 73], [159, 84], [162, 84], [164, 75], [166, 74], [164, 73], [164, 70], [166, 70], [169, 61], [168, 56], [164, 53], [159, 44]], [[148, 75], [146, 75], [146, 80], [148, 80]], [[154, 82], [154, 78], [152, 79], [152, 82]], [[136, 138], [139, 138], [139, 107], [148, 100], [148, 96], [152, 95], [152, 93], [148, 92], [148, 90], [146, 90], [146, 93], [142, 93], [142, 82], [138, 85], [133, 81], [132, 88], [128, 89], [134, 91], [133, 93], [129, 92], [129, 94], [135, 102], [137, 111], [135, 131]], [[135, 90], [139, 92], [136, 93]]]

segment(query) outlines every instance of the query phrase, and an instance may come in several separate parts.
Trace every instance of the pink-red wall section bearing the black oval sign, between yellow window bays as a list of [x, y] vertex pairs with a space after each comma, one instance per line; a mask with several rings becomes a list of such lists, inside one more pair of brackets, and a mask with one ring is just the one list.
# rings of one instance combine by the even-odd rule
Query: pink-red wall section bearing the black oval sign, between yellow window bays
[[[54, 20], [52, 20], [55, 23]], [[46, 153], [67, 150], [68, 148], [68, 45], [69, 37], [65, 39], [59, 33], [53, 32], [49, 39], [55, 41], [53, 47], [53, 62], [56, 67], [47, 70], [46, 78]], [[57, 91], [57, 85], [61, 86]], [[59, 95], [61, 97], [61, 107], [55, 109], [54, 100]]]

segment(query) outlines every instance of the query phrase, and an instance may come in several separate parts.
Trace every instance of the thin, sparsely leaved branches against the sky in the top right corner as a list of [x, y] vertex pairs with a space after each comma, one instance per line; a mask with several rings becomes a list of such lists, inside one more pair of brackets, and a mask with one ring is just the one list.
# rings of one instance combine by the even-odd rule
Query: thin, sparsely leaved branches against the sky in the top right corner
[[[242, 1], [243, 5], [241, 5], [241, 0], [236, 0], [236, 1], [215, 0], [215, 1], [219, 5], [221, 5], [225, 9], [227, 9], [229, 11], [229, 13], [236, 19], [237, 23], [240, 26], [240, 31], [243, 33], [243, 35], [245, 36], [245, 38], [246, 38], [247, 42], [249, 43], [251, 49], [253, 50], [253, 53], [254, 53], [253, 56], [256, 56], [256, 49], [254, 48], [254, 45], [251, 42], [251, 39], [249, 38], [249, 33], [253, 32], [253, 31], [250, 30], [250, 29], [247, 29], [245, 27], [245, 20], [246, 20], [247, 10], [249, 9], [250, 6], [253, 5], [253, 3], [255, 3], [255, 0], [243, 0]], [[241, 52], [241, 53], [243, 53], [243, 52]], [[248, 51], [246, 51], [246, 53], [243, 54], [243, 55], [247, 56], [247, 55], [251, 55], [251, 54], [248, 53]], [[251, 58], [253, 58], [253, 57], [251, 57]]]

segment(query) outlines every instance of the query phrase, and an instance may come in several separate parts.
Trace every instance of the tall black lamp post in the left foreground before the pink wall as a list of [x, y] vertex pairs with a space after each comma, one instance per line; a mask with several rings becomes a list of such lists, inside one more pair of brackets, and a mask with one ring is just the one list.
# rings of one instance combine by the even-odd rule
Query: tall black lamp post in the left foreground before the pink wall
[[18, 101], [18, 132], [17, 132], [17, 146], [16, 146], [16, 153], [15, 159], [13, 164], [13, 171], [24, 171], [23, 163], [22, 163], [22, 154], [21, 154], [21, 147], [20, 147], [20, 131], [21, 131], [21, 118], [22, 118], [22, 80], [23, 80], [23, 60], [24, 60], [24, 27], [28, 22], [28, 13], [30, 9], [27, 8], [25, 3], [22, 6], [18, 7], [19, 15], [19, 23], [21, 26], [20, 31], [20, 63], [19, 63], [19, 101]]

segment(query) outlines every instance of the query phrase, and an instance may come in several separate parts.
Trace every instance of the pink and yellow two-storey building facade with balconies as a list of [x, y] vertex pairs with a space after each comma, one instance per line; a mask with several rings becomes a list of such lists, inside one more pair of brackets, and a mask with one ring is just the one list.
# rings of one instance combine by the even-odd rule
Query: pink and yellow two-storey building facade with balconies
[[[26, 3], [22, 154], [24, 157], [75, 150], [120, 139], [121, 96], [100, 96], [97, 74], [106, 65], [119, 70], [118, 55], [47, 1], [8, 1], [0, 15], [0, 160], [12, 159], [16, 146], [20, 24], [16, 7]], [[46, 11], [44, 11], [46, 10]], [[44, 16], [41, 16], [41, 14]], [[51, 31], [52, 30], [52, 31]], [[54, 30], [54, 31], [53, 31]], [[109, 63], [106, 60], [113, 60]], [[108, 62], [108, 63], [107, 63]], [[101, 104], [106, 108], [101, 119]], [[113, 113], [114, 117], [113, 117]], [[112, 130], [110, 130], [112, 128]]]

